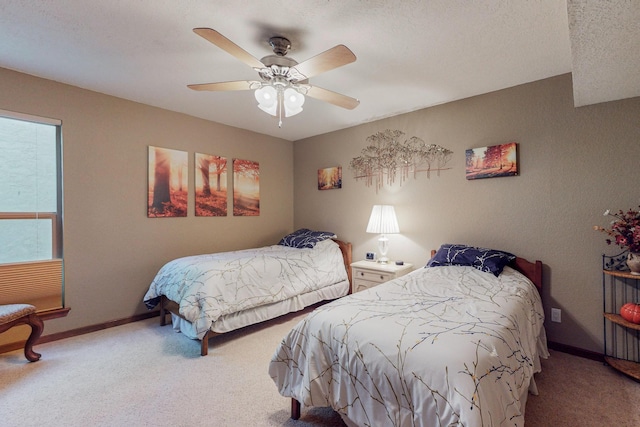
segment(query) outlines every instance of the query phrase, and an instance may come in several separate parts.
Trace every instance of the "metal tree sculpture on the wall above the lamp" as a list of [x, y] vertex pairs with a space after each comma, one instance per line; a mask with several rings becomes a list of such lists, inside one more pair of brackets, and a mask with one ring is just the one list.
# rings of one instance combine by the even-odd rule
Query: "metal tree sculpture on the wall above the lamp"
[[451, 159], [453, 151], [440, 145], [427, 144], [422, 139], [412, 136], [401, 141], [404, 132], [399, 130], [385, 130], [367, 138], [367, 145], [360, 157], [354, 157], [349, 163], [355, 179], [365, 179], [367, 187], [375, 179], [376, 191], [386, 182], [393, 185], [397, 175], [400, 175], [400, 185], [418, 172], [426, 172], [431, 178], [431, 172], [451, 169], [444, 166]]

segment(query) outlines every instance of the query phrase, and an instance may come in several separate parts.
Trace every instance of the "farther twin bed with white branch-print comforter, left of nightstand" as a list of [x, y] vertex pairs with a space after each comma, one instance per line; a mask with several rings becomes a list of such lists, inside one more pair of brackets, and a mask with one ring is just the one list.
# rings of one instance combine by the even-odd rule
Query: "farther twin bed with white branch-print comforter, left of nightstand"
[[209, 331], [228, 332], [335, 299], [349, 291], [338, 242], [325, 239], [313, 247], [278, 244], [178, 258], [158, 271], [144, 303], [152, 309], [163, 297], [173, 302], [174, 327], [202, 340]]

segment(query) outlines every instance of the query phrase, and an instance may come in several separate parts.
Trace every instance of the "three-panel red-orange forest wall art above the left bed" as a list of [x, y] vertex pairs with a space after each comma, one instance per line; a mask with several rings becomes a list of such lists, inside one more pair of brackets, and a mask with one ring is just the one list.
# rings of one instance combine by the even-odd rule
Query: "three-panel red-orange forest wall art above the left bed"
[[[227, 216], [226, 157], [194, 154], [195, 216]], [[189, 162], [186, 151], [149, 146], [147, 216], [186, 217]], [[233, 215], [260, 215], [260, 165], [233, 159]]]

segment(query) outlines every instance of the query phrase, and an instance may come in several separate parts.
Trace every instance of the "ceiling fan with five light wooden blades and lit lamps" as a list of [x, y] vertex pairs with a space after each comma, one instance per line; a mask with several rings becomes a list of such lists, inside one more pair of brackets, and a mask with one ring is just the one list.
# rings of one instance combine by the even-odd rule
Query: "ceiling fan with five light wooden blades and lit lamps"
[[285, 117], [293, 116], [302, 111], [304, 95], [349, 110], [360, 104], [360, 101], [355, 98], [309, 84], [310, 77], [356, 60], [353, 52], [344, 45], [337, 45], [298, 63], [286, 56], [291, 42], [285, 37], [275, 36], [269, 39], [274, 54], [258, 60], [216, 30], [194, 28], [193, 32], [256, 70], [261, 80], [187, 85], [190, 89], [198, 91], [254, 90], [256, 100], [259, 103], [258, 107], [273, 116], [279, 116], [279, 126], [282, 126], [283, 110]]

